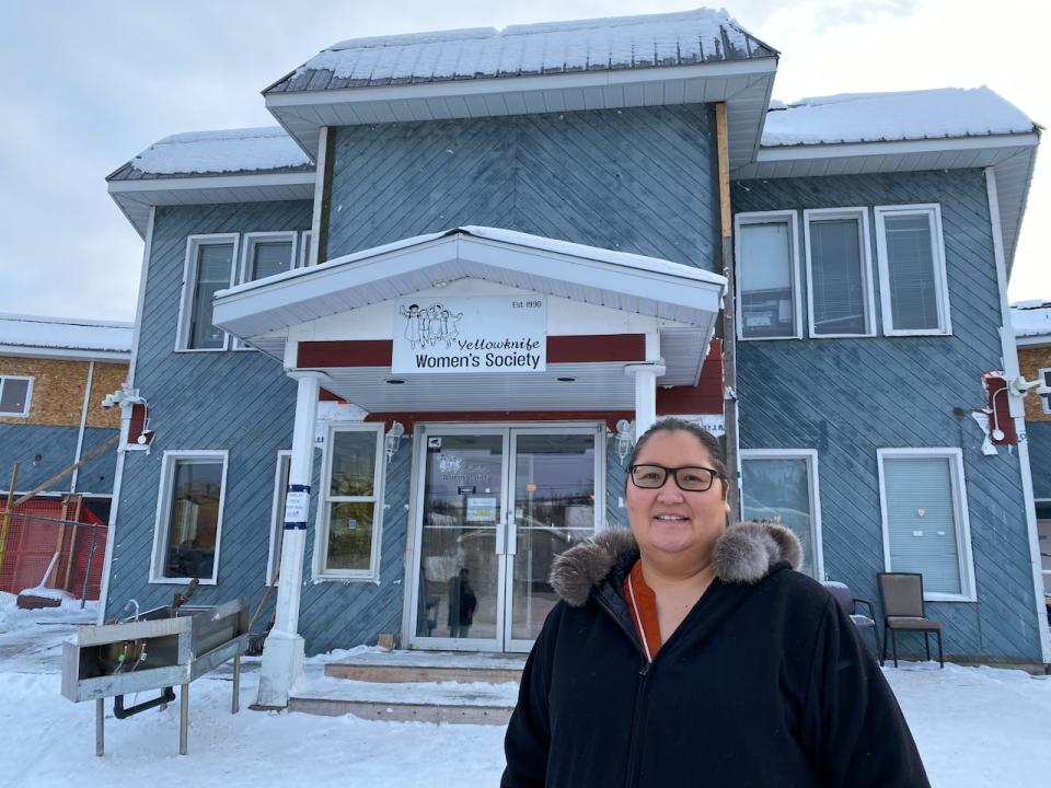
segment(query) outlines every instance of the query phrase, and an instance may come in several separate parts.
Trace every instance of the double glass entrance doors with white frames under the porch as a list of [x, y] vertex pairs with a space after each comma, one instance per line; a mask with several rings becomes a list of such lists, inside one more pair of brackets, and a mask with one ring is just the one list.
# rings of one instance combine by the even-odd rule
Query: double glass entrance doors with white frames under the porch
[[417, 467], [416, 648], [528, 651], [555, 556], [594, 533], [604, 429], [427, 427]]

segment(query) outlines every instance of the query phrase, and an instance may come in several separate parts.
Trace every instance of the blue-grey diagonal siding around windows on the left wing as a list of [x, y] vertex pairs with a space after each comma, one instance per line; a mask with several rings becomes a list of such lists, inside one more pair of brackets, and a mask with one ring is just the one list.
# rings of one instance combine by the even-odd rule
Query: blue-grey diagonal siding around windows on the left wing
[[279, 362], [252, 350], [175, 352], [186, 237], [200, 233], [307, 230], [310, 201], [158, 208], [139, 336], [135, 385], [150, 404], [149, 454], [128, 452], [114, 533], [107, 615], [128, 599], [168, 604], [177, 587], [149, 583], [158, 490], [165, 450], [229, 451], [218, 586], [195, 600], [265, 590], [277, 452], [291, 447], [296, 383]]

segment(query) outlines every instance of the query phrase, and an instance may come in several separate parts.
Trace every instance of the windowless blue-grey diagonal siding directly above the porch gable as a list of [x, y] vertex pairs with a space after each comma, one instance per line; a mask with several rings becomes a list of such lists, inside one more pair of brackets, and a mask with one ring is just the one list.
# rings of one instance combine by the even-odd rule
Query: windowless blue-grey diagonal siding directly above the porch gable
[[342, 127], [327, 257], [482, 224], [712, 270], [713, 139], [705, 105]]

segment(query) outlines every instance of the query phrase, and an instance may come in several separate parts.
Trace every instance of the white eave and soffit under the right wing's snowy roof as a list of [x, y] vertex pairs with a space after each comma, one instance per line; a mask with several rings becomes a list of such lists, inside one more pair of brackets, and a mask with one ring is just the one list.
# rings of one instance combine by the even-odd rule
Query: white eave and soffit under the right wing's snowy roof
[[1014, 260], [1036, 163], [1037, 132], [760, 148], [735, 181], [993, 167], [1007, 268]]

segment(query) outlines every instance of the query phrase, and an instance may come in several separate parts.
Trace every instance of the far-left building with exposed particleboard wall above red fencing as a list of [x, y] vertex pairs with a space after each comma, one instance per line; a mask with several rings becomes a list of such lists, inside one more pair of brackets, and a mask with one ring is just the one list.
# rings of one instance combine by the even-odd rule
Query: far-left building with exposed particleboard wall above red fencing
[[[102, 401], [127, 378], [131, 338], [130, 323], [0, 314], [0, 507], [8, 493], [21, 498], [44, 487], [16, 509], [7, 533], [0, 529], [0, 590], [41, 582], [61, 542], [57, 521], [108, 519], [120, 416]], [[79, 531], [85, 533], [78, 548]], [[70, 526], [50, 577], [97, 599], [103, 553], [88, 560], [89, 532]], [[104, 544], [103, 529], [95, 536]]]

